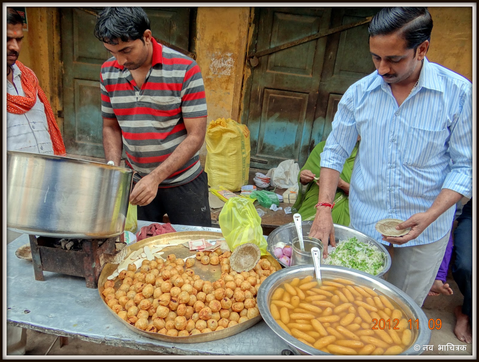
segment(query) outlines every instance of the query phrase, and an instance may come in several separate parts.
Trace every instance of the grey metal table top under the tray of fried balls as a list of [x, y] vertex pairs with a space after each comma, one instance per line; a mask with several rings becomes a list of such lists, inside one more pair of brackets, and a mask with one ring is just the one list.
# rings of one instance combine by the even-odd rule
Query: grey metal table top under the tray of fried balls
[[[150, 222], [138, 221], [138, 228]], [[172, 225], [177, 231], [220, 229]], [[234, 336], [196, 344], [167, 343], [140, 336], [107, 313], [97, 289], [87, 288], [85, 279], [44, 272], [36, 281], [31, 261], [19, 259], [15, 251], [28, 244], [23, 234], [7, 245], [7, 323], [58, 336], [80, 338], [107, 345], [183, 355], [280, 355], [295, 351], [262, 320]]]

